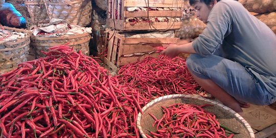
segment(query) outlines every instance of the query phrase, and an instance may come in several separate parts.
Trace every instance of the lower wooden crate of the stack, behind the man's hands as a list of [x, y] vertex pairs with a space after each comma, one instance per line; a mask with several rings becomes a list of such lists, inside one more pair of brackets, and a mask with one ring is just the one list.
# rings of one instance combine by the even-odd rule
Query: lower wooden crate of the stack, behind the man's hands
[[[112, 71], [116, 72], [120, 66], [141, 61], [146, 57], [157, 57], [156, 46], [165, 46], [169, 43], [176, 43], [180, 38], [129, 38], [123, 33], [106, 30], [105, 52], [103, 53], [104, 63]], [[137, 53], [142, 53], [138, 54]], [[134, 54], [134, 55], [132, 55]], [[126, 56], [132, 55], [132, 56]]]

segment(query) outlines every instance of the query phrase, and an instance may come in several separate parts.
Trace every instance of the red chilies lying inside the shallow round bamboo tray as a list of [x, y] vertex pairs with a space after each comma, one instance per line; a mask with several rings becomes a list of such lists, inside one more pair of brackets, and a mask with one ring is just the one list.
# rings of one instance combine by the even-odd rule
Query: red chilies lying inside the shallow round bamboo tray
[[[155, 120], [152, 126], [156, 132], [150, 132], [156, 137], [227, 137], [220, 127], [216, 116], [205, 111], [202, 107], [193, 104], [173, 104], [169, 107], [162, 106], [163, 117], [156, 119], [153, 114], [149, 115]], [[147, 134], [146, 134], [147, 135]], [[234, 134], [229, 135], [233, 137]], [[152, 137], [147, 135], [147, 137]]]

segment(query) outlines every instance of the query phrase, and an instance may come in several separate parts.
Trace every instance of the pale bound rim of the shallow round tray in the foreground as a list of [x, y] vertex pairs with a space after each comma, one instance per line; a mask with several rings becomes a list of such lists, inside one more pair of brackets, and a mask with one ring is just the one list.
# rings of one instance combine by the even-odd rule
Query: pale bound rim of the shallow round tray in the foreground
[[[168, 99], [173, 99], [173, 98], [192, 98], [192, 99], [197, 99], [197, 100], [201, 100], [201, 101], [210, 102], [212, 104], [220, 106], [223, 109], [228, 110], [229, 112], [233, 113], [234, 116], [236, 117], [236, 119], [240, 120], [242, 122], [243, 126], [246, 127], [247, 131], [249, 132], [250, 138], [255, 138], [255, 134], [254, 134], [254, 131], [252, 130], [251, 126], [247, 123], [247, 121], [242, 116], [240, 116], [240, 114], [238, 114], [236, 111], [232, 110], [231, 108], [229, 108], [229, 107], [227, 107], [227, 106], [225, 106], [225, 105], [223, 105], [221, 103], [218, 103], [216, 101], [200, 97], [198, 95], [175, 94], [175, 95], [167, 95], [167, 96], [159, 97], [159, 98], [156, 98], [156, 99], [150, 101], [149, 103], [147, 103], [142, 108], [142, 111], [144, 112], [146, 109], [148, 109], [149, 107], [151, 107], [155, 103], [158, 103], [158, 102], [161, 102], [161, 101], [164, 101], [164, 100], [168, 100]], [[141, 122], [141, 118], [142, 118], [142, 113], [139, 112], [138, 116], [137, 116], [137, 120], [136, 120], [136, 127], [139, 129], [139, 132], [142, 135], [142, 137], [147, 137], [145, 135], [145, 133], [144, 133], [144, 131], [142, 129], [141, 123], [140, 123]]]

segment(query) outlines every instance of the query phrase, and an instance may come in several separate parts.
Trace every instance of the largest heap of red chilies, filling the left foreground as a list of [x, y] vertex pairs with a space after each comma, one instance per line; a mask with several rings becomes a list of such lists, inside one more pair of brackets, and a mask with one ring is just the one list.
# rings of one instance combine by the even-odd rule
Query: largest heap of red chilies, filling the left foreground
[[139, 136], [139, 93], [121, 88], [93, 58], [70, 47], [45, 55], [0, 75], [2, 136]]

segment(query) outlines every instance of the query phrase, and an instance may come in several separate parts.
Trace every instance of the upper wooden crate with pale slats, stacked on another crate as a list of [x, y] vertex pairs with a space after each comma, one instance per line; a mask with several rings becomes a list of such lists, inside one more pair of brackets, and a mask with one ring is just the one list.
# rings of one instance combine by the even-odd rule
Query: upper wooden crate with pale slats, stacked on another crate
[[[189, 5], [182, 0], [108, 0], [106, 25], [123, 31], [179, 29], [181, 21], [169, 22], [126, 22], [128, 17], [173, 17], [182, 16], [181, 9]], [[127, 11], [128, 7], [177, 8], [173, 11]]]

